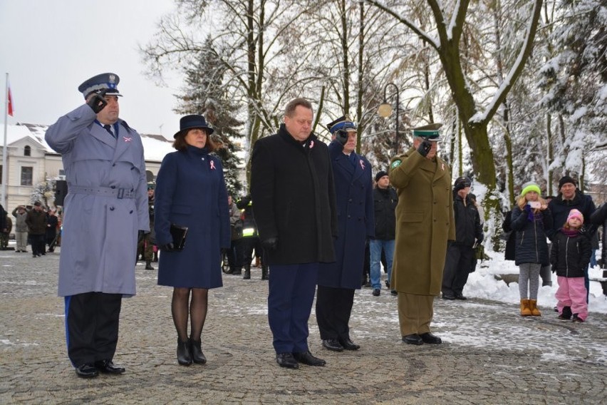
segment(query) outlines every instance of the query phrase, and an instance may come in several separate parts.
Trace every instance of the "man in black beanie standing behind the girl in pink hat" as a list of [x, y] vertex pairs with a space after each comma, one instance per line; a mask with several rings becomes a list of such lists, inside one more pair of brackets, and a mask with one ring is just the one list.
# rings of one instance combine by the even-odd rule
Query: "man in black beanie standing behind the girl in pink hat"
[[[561, 229], [565, 222], [567, 222], [567, 216], [569, 212], [574, 208], [582, 213], [584, 218], [590, 218], [593, 212], [596, 210], [594, 202], [590, 195], [582, 193], [577, 188], [576, 180], [569, 176], [563, 176], [559, 180], [559, 195], [553, 198], [548, 205], [550, 212], [552, 213], [552, 227], [546, 230], [546, 235], [550, 239], [554, 237], [556, 231]], [[591, 238], [596, 231], [595, 227], [589, 227], [586, 231], [586, 236]], [[584, 275], [584, 282], [586, 284], [586, 292], [590, 291], [590, 280], [588, 280], [588, 267], [586, 267], [586, 275]], [[586, 299], [587, 301], [588, 299]]]

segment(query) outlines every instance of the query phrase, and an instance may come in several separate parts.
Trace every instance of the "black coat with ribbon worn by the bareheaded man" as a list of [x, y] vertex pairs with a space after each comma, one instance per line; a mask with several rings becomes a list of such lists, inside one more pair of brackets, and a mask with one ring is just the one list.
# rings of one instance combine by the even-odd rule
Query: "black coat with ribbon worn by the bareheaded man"
[[311, 134], [305, 145], [281, 125], [256, 141], [251, 154], [251, 197], [259, 237], [278, 238], [268, 265], [334, 262], [335, 183], [327, 145]]

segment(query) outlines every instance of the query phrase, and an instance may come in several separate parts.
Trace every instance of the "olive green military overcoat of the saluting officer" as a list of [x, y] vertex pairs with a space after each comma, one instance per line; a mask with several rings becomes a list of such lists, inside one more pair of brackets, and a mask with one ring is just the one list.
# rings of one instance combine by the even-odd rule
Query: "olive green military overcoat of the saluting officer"
[[417, 295], [440, 294], [447, 240], [455, 240], [451, 173], [447, 163], [411, 148], [390, 162], [398, 193], [390, 287]]

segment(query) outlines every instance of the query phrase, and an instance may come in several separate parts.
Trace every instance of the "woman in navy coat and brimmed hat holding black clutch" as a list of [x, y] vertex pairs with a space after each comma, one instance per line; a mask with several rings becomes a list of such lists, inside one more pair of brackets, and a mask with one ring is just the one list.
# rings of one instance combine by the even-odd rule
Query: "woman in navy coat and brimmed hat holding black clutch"
[[[173, 147], [156, 178], [155, 232], [162, 250], [158, 284], [173, 288], [171, 312], [177, 329], [177, 362], [204, 364], [201, 334], [209, 288], [222, 287], [221, 250], [230, 245], [227, 190], [219, 158], [203, 116], [182, 117]], [[188, 228], [176, 251], [171, 224]], [[191, 295], [191, 302], [190, 302]], [[188, 310], [189, 309], [189, 310]], [[190, 337], [187, 319], [190, 317]]]

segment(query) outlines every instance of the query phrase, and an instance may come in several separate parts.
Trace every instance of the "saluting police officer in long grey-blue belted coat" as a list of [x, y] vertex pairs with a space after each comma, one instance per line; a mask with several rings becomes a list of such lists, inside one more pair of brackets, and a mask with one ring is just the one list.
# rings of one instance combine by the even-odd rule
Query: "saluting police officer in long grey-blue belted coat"
[[78, 87], [85, 104], [48, 127], [66, 170], [58, 294], [78, 376], [121, 374], [113, 364], [122, 297], [135, 295], [138, 234], [150, 230], [140, 135], [118, 118], [119, 82], [103, 73]]

